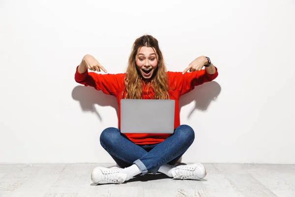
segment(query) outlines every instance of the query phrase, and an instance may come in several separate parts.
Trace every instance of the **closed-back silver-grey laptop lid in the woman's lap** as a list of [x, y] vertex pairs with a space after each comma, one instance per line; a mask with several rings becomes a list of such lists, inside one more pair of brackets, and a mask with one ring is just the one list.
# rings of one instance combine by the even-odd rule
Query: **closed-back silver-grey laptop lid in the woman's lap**
[[121, 99], [122, 133], [173, 133], [175, 100]]

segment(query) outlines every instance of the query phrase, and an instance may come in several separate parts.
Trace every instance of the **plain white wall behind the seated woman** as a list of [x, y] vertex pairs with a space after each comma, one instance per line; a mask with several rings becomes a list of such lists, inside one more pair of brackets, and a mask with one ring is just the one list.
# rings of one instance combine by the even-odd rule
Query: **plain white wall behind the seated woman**
[[293, 0], [1, 0], [0, 163], [113, 163], [99, 135], [116, 99], [74, 81], [93, 55], [124, 72], [134, 40], [167, 67], [201, 55], [218, 78], [180, 100], [196, 140], [182, 162], [295, 164]]

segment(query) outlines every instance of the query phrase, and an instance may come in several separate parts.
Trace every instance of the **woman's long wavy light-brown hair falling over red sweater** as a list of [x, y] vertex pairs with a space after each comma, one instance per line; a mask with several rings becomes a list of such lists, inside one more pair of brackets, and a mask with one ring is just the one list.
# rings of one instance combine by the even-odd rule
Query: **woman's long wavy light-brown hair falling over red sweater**
[[163, 54], [159, 48], [158, 40], [151, 35], [143, 35], [137, 38], [133, 43], [124, 79], [125, 89], [122, 94], [125, 96], [123, 98], [143, 98], [143, 88], [145, 86], [145, 81], [143, 80], [140, 71], [136, 67], [137, 53], [143, 46], [152, 47], [158, 61], [158, 66], [153, 73], [150, 83], [148, 83], [148, 89], [151, 87], [155, 93], [151, 99], [169, 99], [168, 75], [163, 60]]

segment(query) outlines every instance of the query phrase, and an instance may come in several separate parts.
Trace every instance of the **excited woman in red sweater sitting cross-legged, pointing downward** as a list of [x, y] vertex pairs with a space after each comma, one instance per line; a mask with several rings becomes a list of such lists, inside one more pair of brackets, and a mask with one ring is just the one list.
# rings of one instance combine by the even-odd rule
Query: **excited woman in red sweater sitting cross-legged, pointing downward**
[[[205, 69], [202, 69], [205, 66]], [[137, 38], [133, 44], [126, 73], [97, 74], [91, 71], [106, 69], [91, 55], [86, 55], [75, 73], [76, 82], [102, 90], [120, 99], [174, 99], [175, 132], [120, 133], [120, 128], [107, 128], [100, 135], [101, 146], [120, 166], [95, 167], [91, 180], [96, 184], [123, 183], [138, 174], [161, 172], [174, 179], [200, 179], [206, 176], [204, 165], [175, 166], [178, 159], [193, 143], [195, 133], [187, 125], [180, 125], [178, 100], [195, 86], [212, 81], [218, 75], [209, 58], [200, 56], [183, 72], [166, 71], [158, 41], [151, 35]], [[190, 71], [190, 72], [187, 72]], [[144, 110], [144, 109], [143, 109]], [[148, 117], [143, 117], [147, 119]], [[120, 125], [120, 117], [118, 117]]]

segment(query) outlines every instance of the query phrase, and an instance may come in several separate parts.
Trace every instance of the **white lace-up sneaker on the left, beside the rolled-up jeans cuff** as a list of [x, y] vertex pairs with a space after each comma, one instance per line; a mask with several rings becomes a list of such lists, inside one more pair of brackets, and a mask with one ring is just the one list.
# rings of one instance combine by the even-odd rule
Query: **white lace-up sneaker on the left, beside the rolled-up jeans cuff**
[[95, 184], [123, 183], [127, 174], [119, 173], [121, 168], [95, 167], [91, 172], [91, 180]]

